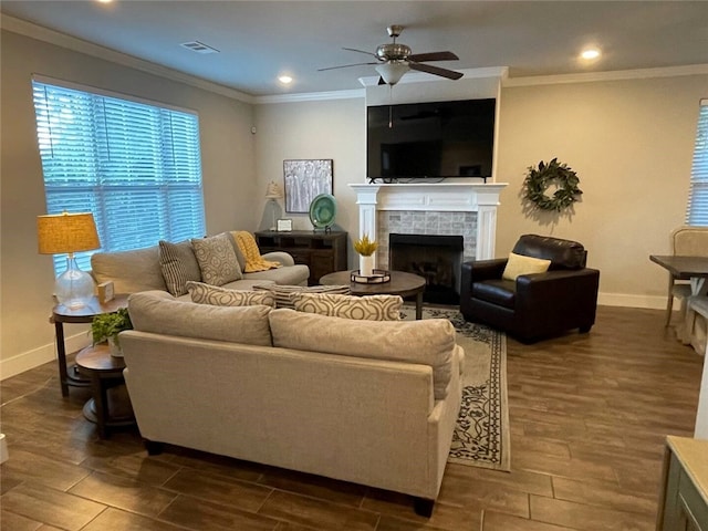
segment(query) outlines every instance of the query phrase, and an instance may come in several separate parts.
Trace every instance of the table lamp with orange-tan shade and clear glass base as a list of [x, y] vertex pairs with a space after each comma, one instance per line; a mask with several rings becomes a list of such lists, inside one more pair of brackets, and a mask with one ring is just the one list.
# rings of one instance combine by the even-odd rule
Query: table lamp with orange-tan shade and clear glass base
[[101, 247], [93, 214], [58, 214], [37, 217], [40, 254], [66, 253], [66, 271], [56, 277], [56, 300], [71, 309], [83, 308], [93, 296], [93, 279], [76, 264], [74, 252]]

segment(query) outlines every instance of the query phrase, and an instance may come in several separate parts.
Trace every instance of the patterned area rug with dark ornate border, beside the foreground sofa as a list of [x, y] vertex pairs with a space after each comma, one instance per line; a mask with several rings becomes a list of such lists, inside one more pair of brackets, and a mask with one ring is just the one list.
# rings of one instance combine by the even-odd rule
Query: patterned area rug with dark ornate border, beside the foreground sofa
[[[405, 304], [402, 317], [414, 320], [415, 306]], [[448, 319], [465, 348], [462, 405], [449, 462], [511, 470], [507, 402], [507, 336], [481, 324], [468, 323], [457, 310], [424, 308], [423, 319]]]

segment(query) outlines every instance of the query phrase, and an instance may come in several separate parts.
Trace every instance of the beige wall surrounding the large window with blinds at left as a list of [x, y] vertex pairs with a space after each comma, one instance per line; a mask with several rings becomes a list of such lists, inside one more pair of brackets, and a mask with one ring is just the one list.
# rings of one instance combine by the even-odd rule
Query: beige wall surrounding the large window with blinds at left
[[[237, 100], [2, 31], [1, 42], [0, 374], [54, 356], [52, 259], [37, 253], [35, 218], [45, 214], [31, 75], [42, 74], [199, 113], [207, 230], [253, 230], [257, 190], [253, 107]], [[67, 325], [72, 345], [87, 341]]]

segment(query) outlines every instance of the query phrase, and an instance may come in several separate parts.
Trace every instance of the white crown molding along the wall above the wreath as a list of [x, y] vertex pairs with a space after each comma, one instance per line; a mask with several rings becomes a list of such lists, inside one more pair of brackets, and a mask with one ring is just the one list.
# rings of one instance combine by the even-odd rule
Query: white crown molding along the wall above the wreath
[[531, 75], [507, 77], [502, 86], [561, 85], [569, 83], [594, 83], [602, 81], [645, 80], [650, 77], [678, 77], [683, 75], [708, 74], [708, 64], [688, 64], [660, 69], [613, 70], [606, 72], [583, 72], [579, 74]]

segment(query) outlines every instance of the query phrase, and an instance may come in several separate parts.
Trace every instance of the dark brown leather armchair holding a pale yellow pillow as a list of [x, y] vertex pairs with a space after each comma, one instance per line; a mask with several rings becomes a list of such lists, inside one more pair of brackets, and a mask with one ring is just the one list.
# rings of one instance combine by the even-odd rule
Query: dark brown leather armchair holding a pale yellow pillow
[[513, 253], [551, 260], [544, 273], [503, 280], [507, 259], [462, 263], [460, 311], [467, 321], [502, 330], [523, 343], [595, 323], [600, 271], [585, 267], [587, 251], [576, 241], [522, 236]]

